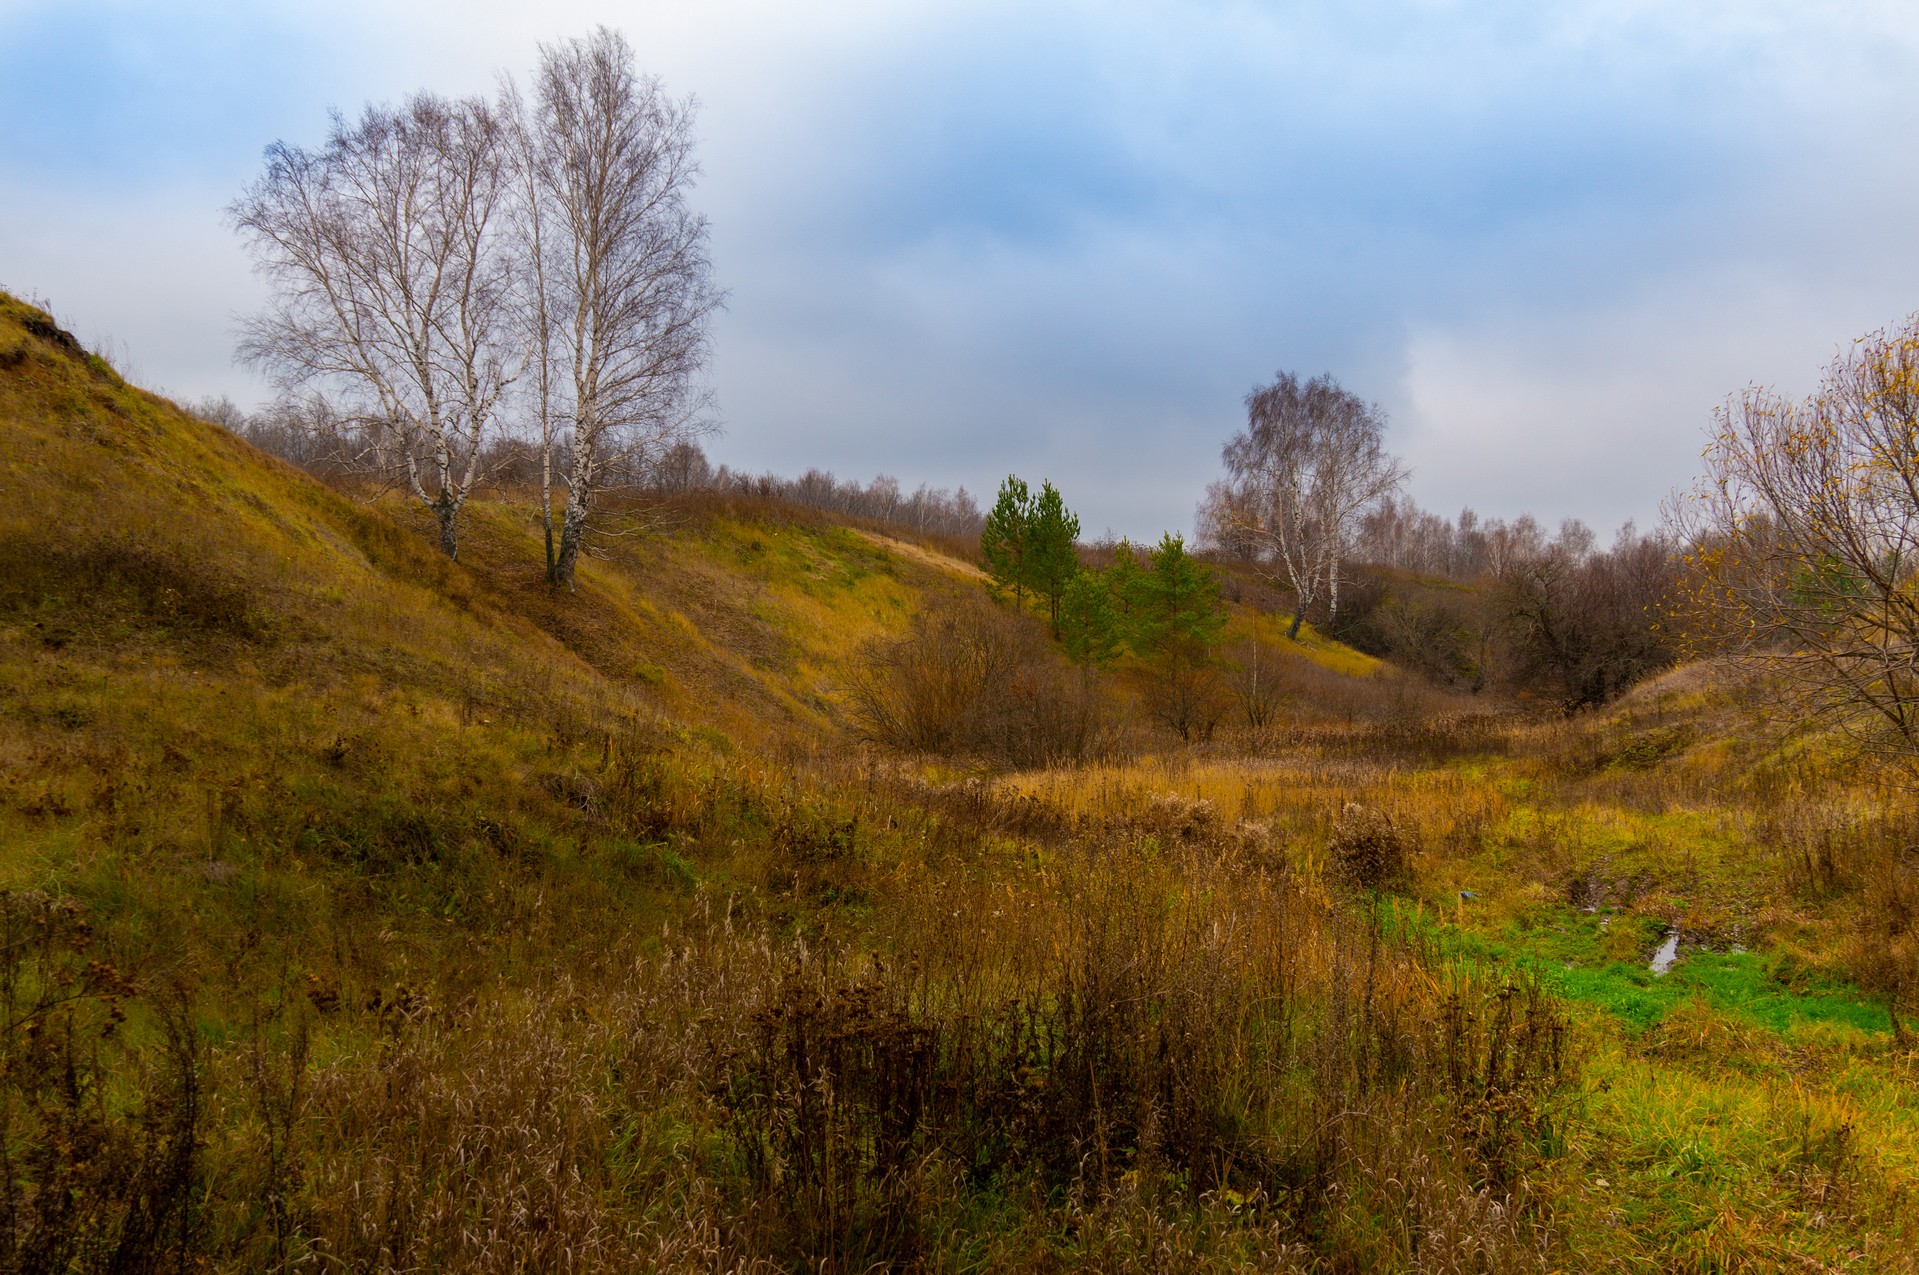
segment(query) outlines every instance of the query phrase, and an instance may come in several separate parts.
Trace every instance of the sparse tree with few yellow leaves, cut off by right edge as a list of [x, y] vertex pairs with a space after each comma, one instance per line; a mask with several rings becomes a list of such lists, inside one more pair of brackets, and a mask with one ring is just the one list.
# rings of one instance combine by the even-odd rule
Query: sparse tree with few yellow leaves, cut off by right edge
[[1810, 397], [1733, 397], [1671, 515], [1693, 641], [1919, 772], [1919, 315], [1838, 355]]

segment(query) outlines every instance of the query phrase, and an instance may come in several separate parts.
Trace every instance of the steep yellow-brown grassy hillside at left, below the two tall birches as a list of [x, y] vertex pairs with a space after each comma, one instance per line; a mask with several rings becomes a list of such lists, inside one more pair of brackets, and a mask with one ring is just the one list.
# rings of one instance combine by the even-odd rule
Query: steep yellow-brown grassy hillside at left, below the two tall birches
[[597, 862], [631, 856], [610, 755], [689, 778], [833, 735], [846, 653], [952, 588], [750, 507], [618, 511], [568, 593], [510, 503], [449, 563], [420, 511], [127, 386], [10, 298], [0, 430], [0, 885], [125, 918], [142, 968], [255, 935], [372, 995], [547, 887], [652, 924], [683, 879]]

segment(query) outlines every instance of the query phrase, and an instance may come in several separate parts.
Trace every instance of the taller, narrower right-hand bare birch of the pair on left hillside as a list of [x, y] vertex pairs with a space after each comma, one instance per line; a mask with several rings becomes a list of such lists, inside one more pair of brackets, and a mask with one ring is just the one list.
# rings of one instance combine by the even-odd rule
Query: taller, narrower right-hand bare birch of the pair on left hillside
[[[722, 294], [706, 219], [687, 204], [693, 111], [639, 75], [604, 27], [541, 46], [530, 104], [507, 90], [535, 236], [524, 271], [537, 290], [524, 307], [537, 328], [535, 417], [566, 486], [555, 584], [572, 584], [603, 488], [704, 428], [699, 374]], [[547, 526], [551, 538], [551, 497]]]

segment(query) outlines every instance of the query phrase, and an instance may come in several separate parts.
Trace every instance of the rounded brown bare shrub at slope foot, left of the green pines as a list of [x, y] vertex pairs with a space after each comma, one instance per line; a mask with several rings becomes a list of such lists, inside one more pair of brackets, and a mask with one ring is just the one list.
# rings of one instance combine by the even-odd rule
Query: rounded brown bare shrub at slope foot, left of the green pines
[[865, 649], [852, 712], [877, 743], [1011, 766], [1078, 760], [1105, 735], [1098, 674], [1067, 668], [1031, 618], [950, 597]]

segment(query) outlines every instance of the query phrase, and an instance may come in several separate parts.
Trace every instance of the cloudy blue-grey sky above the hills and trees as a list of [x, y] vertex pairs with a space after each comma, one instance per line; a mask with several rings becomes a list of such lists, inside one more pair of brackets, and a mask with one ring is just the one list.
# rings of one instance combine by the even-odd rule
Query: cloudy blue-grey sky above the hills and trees
[[1190, 528], [1278, 371], [1424, 507], [1658, 520], [1712, 411], [1919, 309], [1919, 6], [0, 0], [0, 286], [178, 399], [269, 142], [616, 27], [700, 104], [716, 461]]

